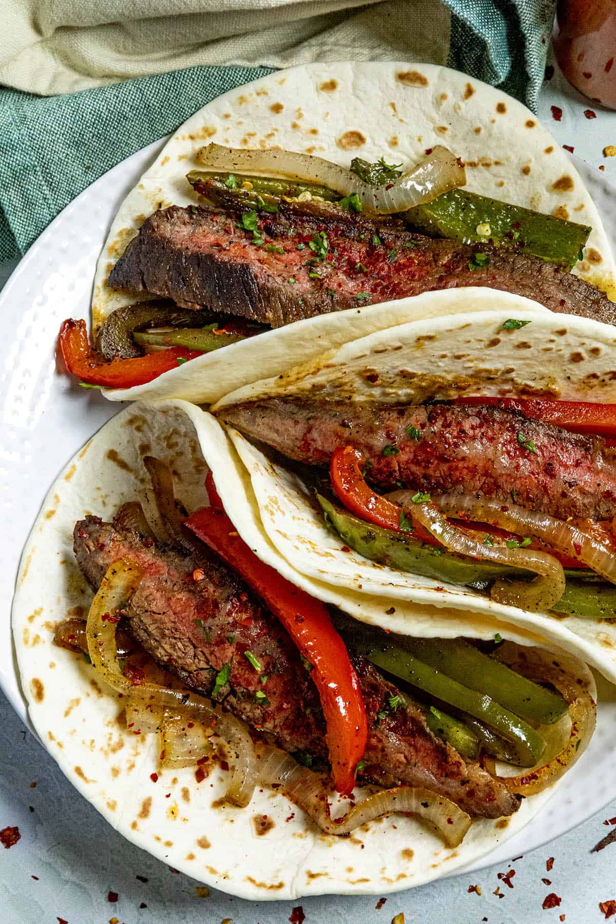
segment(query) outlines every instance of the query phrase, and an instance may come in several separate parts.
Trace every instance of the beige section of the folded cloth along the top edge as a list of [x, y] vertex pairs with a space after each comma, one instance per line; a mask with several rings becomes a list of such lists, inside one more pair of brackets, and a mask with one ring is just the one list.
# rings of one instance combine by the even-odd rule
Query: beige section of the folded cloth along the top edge
[[439, 0], [7, 0], [0, 83], [54, 94], [199, 64], [444, 64]]

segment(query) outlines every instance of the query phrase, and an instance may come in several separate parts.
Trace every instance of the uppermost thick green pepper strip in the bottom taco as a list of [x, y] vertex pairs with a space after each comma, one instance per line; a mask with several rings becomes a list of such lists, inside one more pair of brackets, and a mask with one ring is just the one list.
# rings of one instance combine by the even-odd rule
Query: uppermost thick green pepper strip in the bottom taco
[[404, 647], [442, 674], [497, 700], [526, 722], [553, 724], [568, 710], [560, 693], [539, 687], [462, 638], [405, 638]]

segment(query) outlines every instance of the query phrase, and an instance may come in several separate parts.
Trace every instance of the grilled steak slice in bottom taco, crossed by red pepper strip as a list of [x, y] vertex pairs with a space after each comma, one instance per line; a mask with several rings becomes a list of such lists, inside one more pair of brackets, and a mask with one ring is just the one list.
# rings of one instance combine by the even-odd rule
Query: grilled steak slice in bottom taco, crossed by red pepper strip
[[[119, 522], [116, 519], [116, 524]], [[199, 693], [211, 693], [223, 664], [231, 665], [223, 705], [289, 751], [327, 757], [325, 725], [317, 688], [283, 626], [243, 582], [204, 548], [187, 556], [157, 547], [137, 532], [116, 529], [99, 517], [75, 526], [74, 549], [82, 573], [97, 589], [118, 558], [144, 571], [125, 614], [145, 650]], [[199, 567], [204, 577], [195, 580]], [[250, 651], [260, 671], [248, 662]], [[425, 785], [449, 796], [470, 814], [498, 818], [519, 805], [476, 763], [464, 760], [431, 734], [414, 705], [377, 721], [395, 687], [362, 657], [354, 657], [366, 701], [370, 733], [363, 778], [384, 786]], [[262, 675], [267, 681], [262, 683]], [[263, 690], [269, 704], [255, 699]]]

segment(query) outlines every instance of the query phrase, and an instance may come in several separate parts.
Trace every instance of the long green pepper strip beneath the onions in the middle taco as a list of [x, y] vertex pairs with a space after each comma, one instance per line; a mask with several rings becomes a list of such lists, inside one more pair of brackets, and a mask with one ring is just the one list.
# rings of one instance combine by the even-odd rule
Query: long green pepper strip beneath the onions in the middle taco
[[[460, 584], [479, 592], [489, 589], [497, 577], [533, 577], [512, 565], [482, 561], [448, 552], [413, 538], [412, 532], [394, 532], [355, 517], [317, 492], [326, 520], [350, 548], [370, 561], [448, 584]], [[552, 611], [581, 619], [610, 619], [616, 615], [616, 586], [592, 571], [565, 568], [567, 579], [561, 599]]]

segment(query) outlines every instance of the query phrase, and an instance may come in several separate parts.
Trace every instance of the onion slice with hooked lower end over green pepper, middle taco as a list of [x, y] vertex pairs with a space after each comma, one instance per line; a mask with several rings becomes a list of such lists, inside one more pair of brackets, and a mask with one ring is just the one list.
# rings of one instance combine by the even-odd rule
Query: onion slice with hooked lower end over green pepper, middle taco
[[[390, 496], [393, 498], [393, 495]], [[487, 559], [490, 562], [501, 562], [502, 565], [515, 565], [537, 574], [531, 581], [504, 578], [495, 580], [490, 589], [493, 601], [537, 613], [550, 610], [554, 603], [561, 599], [565, 584], [564, 571], [561, 563], [552, 555], [534, 552], [531, 549], [484, 545], [449, 523], [432, 503], [411, 504], [405, 510], [442, 542], [445, 548], [453, 552]]]

